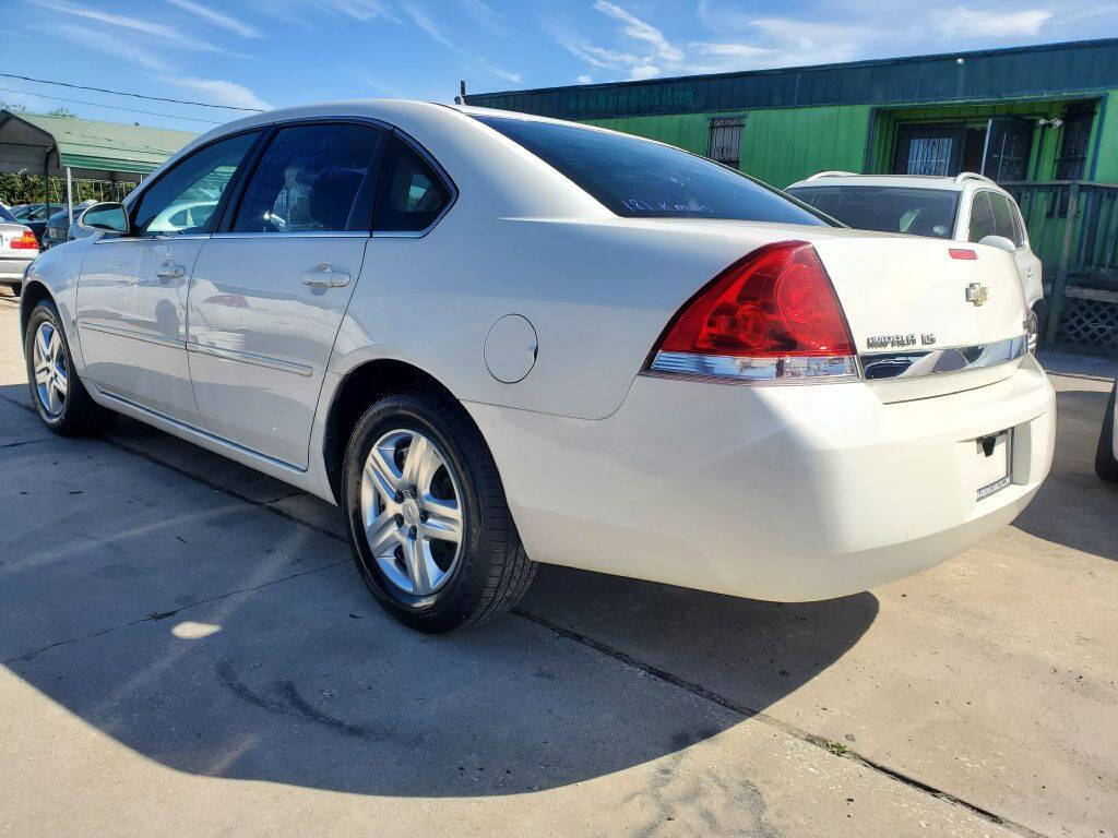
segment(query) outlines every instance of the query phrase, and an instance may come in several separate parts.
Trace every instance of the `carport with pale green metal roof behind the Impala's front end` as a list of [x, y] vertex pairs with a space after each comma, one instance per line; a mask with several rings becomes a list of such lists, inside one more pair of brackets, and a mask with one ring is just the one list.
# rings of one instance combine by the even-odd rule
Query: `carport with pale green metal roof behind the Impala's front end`
[[74, 178], [142, 180], [196, 136], [189, 131], [0, 109], [0, 172], [41, 172], [48, 210], [49, 179], [65, 174], [73, 221]]

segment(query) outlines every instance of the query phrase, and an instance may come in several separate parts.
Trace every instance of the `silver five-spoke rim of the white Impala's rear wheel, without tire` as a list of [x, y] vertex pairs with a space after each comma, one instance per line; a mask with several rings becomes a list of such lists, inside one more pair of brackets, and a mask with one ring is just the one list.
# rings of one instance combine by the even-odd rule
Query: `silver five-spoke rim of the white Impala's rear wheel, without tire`
[[462, 554], [463, 499], [446, 457], [426, 436], [399, 429], [377, 440], [361, 475], [361, 522], [392, 585], [427, 597], [447, 582]]

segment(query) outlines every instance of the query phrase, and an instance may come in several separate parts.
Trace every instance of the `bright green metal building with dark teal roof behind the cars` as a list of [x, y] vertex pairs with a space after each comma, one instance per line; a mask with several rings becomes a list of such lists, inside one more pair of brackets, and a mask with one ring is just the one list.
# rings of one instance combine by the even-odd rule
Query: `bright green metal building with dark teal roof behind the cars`
[[466, 102], [660, 140], [776, 187], [822, 170], [982, 172], [1017, 197], [1045, 263], [1051, 342], [1118, 353], [1118, 39]]

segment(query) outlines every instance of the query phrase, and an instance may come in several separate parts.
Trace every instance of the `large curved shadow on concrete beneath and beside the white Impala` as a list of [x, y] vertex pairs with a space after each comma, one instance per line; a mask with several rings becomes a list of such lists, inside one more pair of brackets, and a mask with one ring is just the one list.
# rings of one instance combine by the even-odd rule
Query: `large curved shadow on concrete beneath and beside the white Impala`
[[878, 613], [869, 593], [777, 604], [542, 566], [518, 612], [425, 636], [323, 527], [122, 450], [151, 436], [0, 446], [0, 637], [12, 673], [178, 771], [405, 797], [579, 783], [765, 711]]

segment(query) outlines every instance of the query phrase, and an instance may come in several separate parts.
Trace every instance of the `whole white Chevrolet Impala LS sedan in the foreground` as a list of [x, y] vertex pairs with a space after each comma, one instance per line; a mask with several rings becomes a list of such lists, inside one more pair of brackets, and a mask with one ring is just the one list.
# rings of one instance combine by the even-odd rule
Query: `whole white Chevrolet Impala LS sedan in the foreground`
[[537, 562], [862, 591], [1012, 521], [1052, 463], [1007, 254], [836, 228], [625, 134], [280, 111], [83, 223], [23, 294], [44, 423], [124, 413], [337, 503], [426, 631], [508, 609]]

